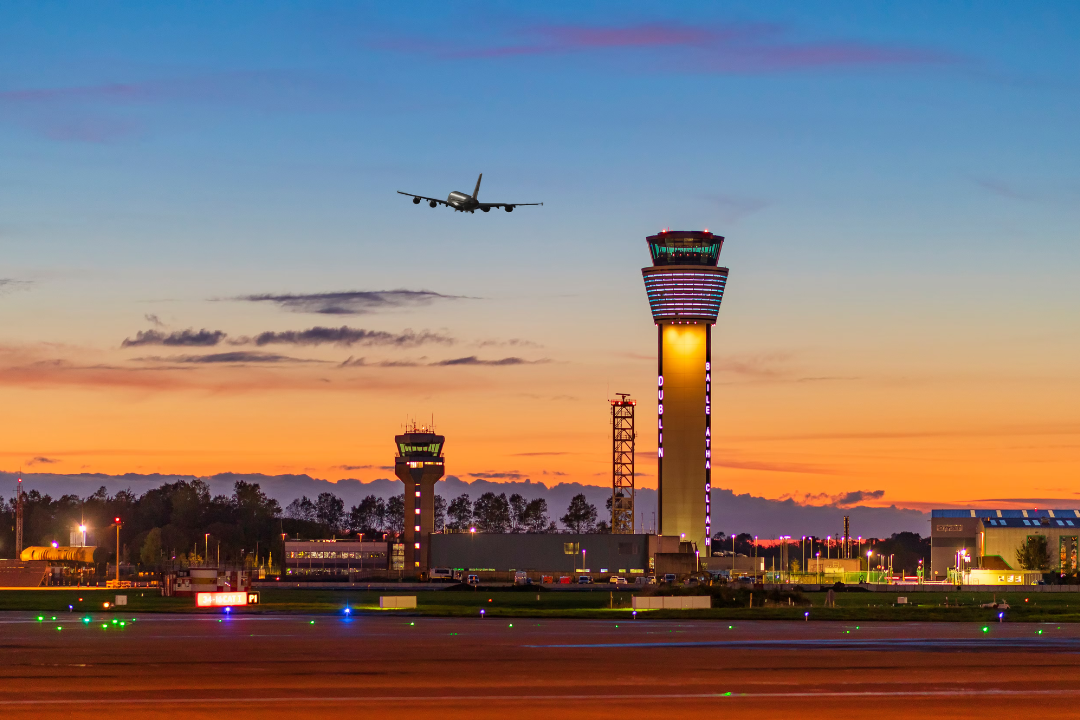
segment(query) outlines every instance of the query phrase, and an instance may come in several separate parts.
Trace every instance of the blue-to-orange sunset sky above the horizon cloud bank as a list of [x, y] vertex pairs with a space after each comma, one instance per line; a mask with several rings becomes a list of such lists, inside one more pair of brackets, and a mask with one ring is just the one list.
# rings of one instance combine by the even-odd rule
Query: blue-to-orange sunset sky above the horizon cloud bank
[[654, 487], [707, 228], [717, 486], [1080, 504], [1080, 5], [880, 4], [3, 3], [0, 470]]

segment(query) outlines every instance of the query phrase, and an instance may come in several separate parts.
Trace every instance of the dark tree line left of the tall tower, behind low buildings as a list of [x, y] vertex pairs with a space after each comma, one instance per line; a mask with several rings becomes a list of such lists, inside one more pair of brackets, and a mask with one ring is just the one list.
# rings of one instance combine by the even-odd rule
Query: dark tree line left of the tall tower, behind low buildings
[[[566, 514], [549, 517], [543, 499], [525, 500], [514, 493], [485, 492], [474, 501], [461, 494], [447, 502], [435, 497], [438, 532], [596, 532], [596, 507], [583, 494], [576, 495]], [[332, 492], [314, 500], [300, 497], [284, 510], [257, 483], [238, 480], [229, 495], [212, 495], [201, 479], [166, 483], [136, 495], [130, 490], [110, 494], [105, 487], [80, 498], [65, 494], [53, 499], [30, 490], [23, 493], [24, 546], [69, 544], [71, 533], [84, 525], [89, 544], [107, 548], [116, 560], [114, 518], [120, 518], [122, 562], [158, 568], [190, 565], [218, 558], [228, 563], [262, 563], [278, 560], [285, 538], [309, 540], [369, 534], [381, 538], [402, 532], [404, 495], [389, 501], [364, 498], [346, 512], [345, 501]], [[14, 557], [15, 499], [0, 498], [0, 557]]]

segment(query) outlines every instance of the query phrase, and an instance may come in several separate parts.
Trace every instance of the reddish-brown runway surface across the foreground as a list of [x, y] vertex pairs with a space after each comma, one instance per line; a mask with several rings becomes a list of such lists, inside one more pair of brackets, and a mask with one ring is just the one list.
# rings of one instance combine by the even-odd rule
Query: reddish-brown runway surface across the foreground
[[1080, 717], [1072, 625], [51, 617], [0, 614], [4, 718]]

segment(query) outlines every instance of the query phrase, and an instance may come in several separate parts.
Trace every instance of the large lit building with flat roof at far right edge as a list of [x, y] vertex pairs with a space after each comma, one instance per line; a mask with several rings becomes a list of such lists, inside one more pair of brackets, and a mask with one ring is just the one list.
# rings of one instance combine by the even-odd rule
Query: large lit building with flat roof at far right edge
[[931, 511], [927, 579], [960, 572], [978, 584], [1028, 583], [1041, 572], [1024, 573], [1016, 552], [1035, 535], [1047, 539], [1047, 572], [1077, 570], [1080, 510]]

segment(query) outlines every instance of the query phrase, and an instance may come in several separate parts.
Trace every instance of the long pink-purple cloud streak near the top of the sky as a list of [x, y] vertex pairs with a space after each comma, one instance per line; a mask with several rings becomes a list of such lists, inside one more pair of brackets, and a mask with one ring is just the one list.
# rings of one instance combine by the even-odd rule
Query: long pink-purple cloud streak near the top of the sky
[[[934, 50], [858, 41], [800, 42], [785, 39], [779, 25], [730, 24], [689, 26], [656, 22], [622, 26], [539, 25], [503, 32], [499, 41], [472, 45], [416, 38], [379, 45], [401, 52], [434, 54], [445, 59], [505, 59], [522, 56], [597, 56], [626, 60], [639, 56], [639, 67], [716, 74], [761, 74], [824, 68], [941, 66], [959, 58]], [[503, 38], [511, 38], [503, 41]]]

